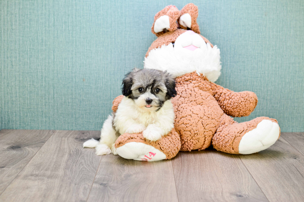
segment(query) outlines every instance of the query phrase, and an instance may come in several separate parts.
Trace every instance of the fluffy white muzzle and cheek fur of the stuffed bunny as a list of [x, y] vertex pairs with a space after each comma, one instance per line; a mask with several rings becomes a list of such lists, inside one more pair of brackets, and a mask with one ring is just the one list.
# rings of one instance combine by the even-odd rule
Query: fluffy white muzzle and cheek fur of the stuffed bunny
[[[175, 77], [195, 71], [215, 82], [221, 75], [220, 49], [216, 45], [212, 48], [209, 43], [202, 41], [198, 34], [185, 32], [177, 37], [174, 47], [170, 43], [151, 50], [145, 58], [144, 68], [167, 70]], [[199, 48], [194, 51], [185, 49], [188, 45]]]

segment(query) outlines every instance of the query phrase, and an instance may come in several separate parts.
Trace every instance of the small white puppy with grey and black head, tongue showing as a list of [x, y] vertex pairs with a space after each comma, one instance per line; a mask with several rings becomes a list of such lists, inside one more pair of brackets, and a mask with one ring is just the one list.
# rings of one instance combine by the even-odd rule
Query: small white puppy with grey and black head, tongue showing
[[105, 120], [100, 140], [88, 140], [83, 147], [96, 148], [97, 155], [117, 155], [114, 146], [119, 135], [141, 133], [157, 141], [174, 127], [171, 98], [176, 96], [175, 80], [168, 72], [134, 69], [123, 79], [125, 96], [118, 109]]

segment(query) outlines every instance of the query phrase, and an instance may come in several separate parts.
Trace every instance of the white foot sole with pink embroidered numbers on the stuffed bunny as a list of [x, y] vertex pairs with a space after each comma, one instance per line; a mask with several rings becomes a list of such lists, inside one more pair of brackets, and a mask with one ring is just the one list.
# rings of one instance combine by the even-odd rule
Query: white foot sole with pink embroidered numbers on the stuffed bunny
[[128, 142], [116, 148], [119, 156], [136, 161], [159, 161], [166, 159], [166, 155], [151, 145], [141, 142]]

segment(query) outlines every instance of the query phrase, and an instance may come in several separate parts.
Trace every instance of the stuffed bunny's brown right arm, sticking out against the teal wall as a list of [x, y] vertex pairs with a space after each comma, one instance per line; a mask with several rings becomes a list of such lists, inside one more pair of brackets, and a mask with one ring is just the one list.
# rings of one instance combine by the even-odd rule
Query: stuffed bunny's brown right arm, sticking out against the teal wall
[[233, 117], [248, 116], [257, 106], [257, 95], [254, 92], [234, 92], [210, 82], [213, 97], [225, 114]]

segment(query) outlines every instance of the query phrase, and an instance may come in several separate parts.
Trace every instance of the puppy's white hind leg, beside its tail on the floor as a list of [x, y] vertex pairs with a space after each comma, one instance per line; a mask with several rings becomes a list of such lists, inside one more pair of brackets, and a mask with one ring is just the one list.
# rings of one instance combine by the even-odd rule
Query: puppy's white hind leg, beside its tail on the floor
[[[113, 116], [109, 115], [105, 120], [100, 135], [99, 144], [96, 145], [96, 155], [110, 154], [117, 139], [116, 131], [112, 126]], [[112, 149], [113, 151], [114, 149]], [[113, 152], [114, 153], [114, 152]]]

